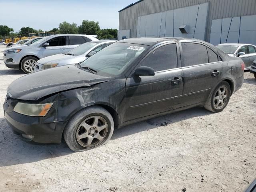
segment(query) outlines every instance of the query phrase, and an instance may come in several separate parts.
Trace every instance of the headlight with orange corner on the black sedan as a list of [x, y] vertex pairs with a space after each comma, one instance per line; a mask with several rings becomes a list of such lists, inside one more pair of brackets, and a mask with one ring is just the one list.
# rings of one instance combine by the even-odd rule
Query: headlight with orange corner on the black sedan
[[28, 104], [28, 103], [18, 103], [14, 107], [14, 111], [23, 115], [28, 116], [46, 116], [50, 110], [52, 103], [45, 104]]

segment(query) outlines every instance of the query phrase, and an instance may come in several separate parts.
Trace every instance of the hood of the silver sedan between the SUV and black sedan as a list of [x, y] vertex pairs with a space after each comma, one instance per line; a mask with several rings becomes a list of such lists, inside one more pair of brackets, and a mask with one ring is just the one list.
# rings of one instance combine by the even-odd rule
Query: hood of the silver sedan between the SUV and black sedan
[[57, 54], [57, 55], [52, 55], [48, 56], [45, 58], [42, 58], [38, 60], [37, 62], [39, 64], [46, 64], [46, 63], [58, 63], [60, 65], [68, 65], [68, 64], [76, 64], [79, 62], [82, 62], [86, 59], [84, 55], [65, 55], [65, 54]]

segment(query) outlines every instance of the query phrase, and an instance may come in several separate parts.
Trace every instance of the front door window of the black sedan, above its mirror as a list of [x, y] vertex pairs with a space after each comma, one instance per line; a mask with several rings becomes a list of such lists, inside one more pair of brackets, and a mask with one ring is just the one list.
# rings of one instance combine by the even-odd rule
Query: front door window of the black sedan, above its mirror
[[168, 44], [157, 48], [142, 61], [140, 66], [151, 67], [154, 71], [177, 68], [176, 44]]

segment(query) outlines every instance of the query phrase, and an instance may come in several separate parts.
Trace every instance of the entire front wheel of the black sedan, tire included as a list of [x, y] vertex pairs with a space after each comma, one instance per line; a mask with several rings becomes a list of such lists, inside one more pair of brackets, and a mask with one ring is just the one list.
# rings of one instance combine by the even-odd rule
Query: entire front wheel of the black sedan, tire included
[[106, 144], [114, 131], [111, 114], [100, 106], [85, 108], [75, 114], [64, 129], [64, 140], [74, 151], [85, 151]]

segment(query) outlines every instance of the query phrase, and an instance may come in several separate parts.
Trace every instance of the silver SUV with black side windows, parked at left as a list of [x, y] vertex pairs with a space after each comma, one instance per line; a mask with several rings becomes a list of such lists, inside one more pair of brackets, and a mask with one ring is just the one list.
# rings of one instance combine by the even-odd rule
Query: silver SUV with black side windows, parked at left
[[65, 53], [80, 44], [98, 40], [92, 35], [59, 34], [42, 38], [29, 46], [16, 46], [4, 50], [4, 63], [8, 68], [34, 71], [36, 62], [44, 57]]

